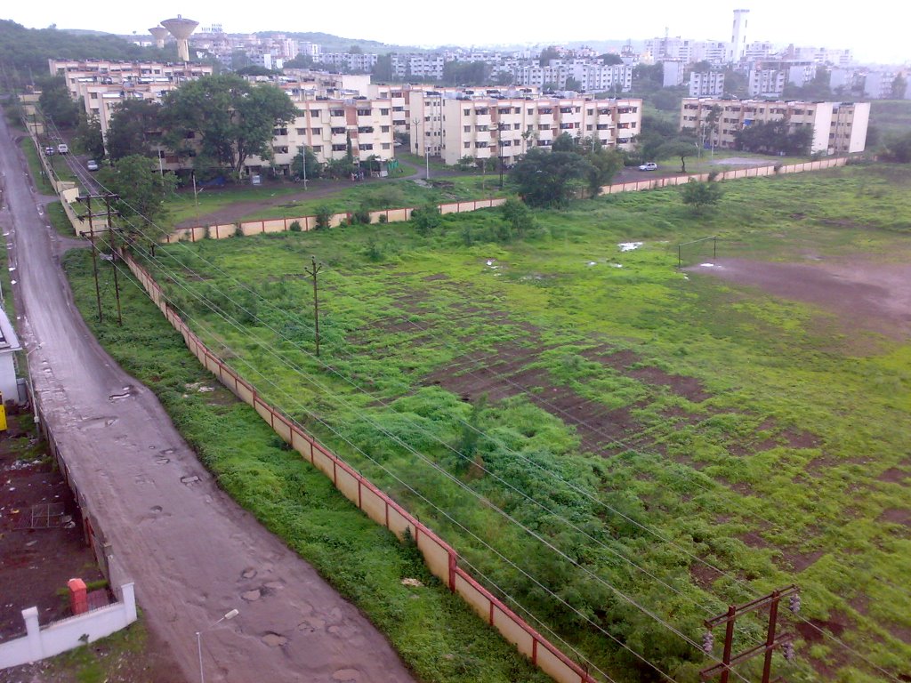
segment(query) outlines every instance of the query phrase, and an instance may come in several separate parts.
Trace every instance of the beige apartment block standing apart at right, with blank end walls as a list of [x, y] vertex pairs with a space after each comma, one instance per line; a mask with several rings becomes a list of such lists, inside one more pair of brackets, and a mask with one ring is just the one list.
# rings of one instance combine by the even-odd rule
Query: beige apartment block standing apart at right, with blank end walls
[[[706, 133], [706, 119], [712, 107], [721, 107], [718, 125]], [[734, 136], [754, 122], [785, 120], [791, 127], [812, 126], [812, 153], [849, 154], [864, 151], [870, 119], [868, 102], [768, 102], [725, 100], [713, 97], [685, 98], [681, 103], [681, 130], [697, 137], [705, 135], [706, 145], [733, 148]]]

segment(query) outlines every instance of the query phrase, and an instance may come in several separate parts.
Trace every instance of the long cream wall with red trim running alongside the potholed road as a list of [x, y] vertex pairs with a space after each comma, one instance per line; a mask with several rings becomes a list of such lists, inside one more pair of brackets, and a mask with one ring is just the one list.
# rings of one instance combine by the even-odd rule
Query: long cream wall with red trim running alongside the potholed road
[[263, 401], [250, 382], [241, 378], [218, 356], [210, 352], [199, 337], [190, 331], [178, 313], [170, 308], [164, 292], [148, 271], [125, 250], [121, 251], [121, 255], [148, 292], [149, 298], [155, 302], [174, 329], [180, 332], [189, 351], [199, 359], [206, 370], [214, 374], [241, 401], [251, 405], [285, 443], [290, 444], [304, 459], [332, 479], [335, 487], [349, 501], [400, 539], [404, 538], [405, 532], [408, 531], [415, 539], [430, 571], [551, 678], [558, 683], [594, 683], [595, 679], [585, 669], [541, 636], [459, 566], [458, 554], [452, 546], [384, 494], [363, 474], [354, 470], [350, 464], [333, 454], [310, 434], [305, 433], [291, 418]]

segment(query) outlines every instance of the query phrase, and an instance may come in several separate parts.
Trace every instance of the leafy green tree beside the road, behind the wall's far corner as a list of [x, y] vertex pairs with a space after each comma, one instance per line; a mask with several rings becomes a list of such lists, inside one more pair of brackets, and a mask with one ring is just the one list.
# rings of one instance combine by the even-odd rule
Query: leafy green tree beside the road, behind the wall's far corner
[[[125, 218], [136, 217], [141, 221], [142, 231], [166, 213], [163, 201], [174, 193], [177, 178], [173, 174], [159, 174], [152, 162], [139, 155], [131, 155], [118, 160], [113, 168], [102, 168], [98, 171], [101, 184], [119, 195], [114, 208]], [[159, 230], [154, 230], [152, 239], [159, 237]]]

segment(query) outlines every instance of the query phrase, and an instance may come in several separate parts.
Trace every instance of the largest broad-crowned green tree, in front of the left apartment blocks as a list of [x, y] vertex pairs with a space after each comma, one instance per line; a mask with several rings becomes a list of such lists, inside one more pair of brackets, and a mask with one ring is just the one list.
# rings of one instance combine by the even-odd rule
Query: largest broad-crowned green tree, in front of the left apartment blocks
[[170, 148], [240, 174], [251, 156], [271, 158], [274, 128], [292, 121], [297, 109], [279, 88], [228, 74], [170, 92], [162, 114]]

